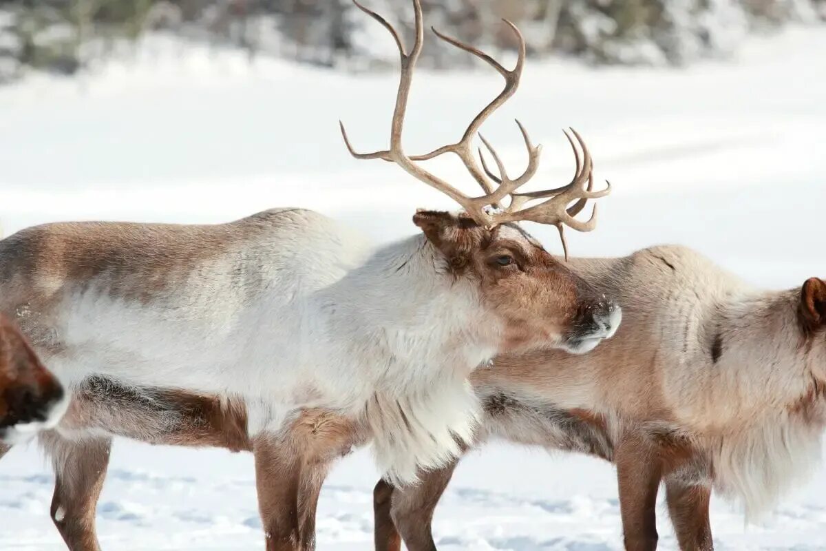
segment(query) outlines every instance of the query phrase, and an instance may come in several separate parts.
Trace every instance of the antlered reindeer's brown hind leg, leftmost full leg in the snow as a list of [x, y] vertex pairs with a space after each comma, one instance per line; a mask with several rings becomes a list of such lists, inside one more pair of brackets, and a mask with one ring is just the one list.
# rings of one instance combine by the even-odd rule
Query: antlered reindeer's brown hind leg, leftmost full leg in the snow
[[100, 551], [95, 511], [109, 466], [112, 439], [72, 441], [48, 432], [41, 441], [55, 466], [51, 505], [55, 526], [71, 551]]

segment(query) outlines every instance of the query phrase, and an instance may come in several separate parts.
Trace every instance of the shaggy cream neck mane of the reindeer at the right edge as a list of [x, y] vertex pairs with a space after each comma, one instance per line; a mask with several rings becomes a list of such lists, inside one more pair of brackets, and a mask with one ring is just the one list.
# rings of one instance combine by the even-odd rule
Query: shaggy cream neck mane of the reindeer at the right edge
[[[724, 380], [737, 415], [706, 437], [715, 486], [740, 501], [747, 519], [762, 515], [819, 464], [824, 385], [813, 363], [823, 361], [800, 330], [799, 291], [745, 297], [722, 311], [724, 349], [712, 370]], [[722, 396], [721, 396], [722, 397]]]

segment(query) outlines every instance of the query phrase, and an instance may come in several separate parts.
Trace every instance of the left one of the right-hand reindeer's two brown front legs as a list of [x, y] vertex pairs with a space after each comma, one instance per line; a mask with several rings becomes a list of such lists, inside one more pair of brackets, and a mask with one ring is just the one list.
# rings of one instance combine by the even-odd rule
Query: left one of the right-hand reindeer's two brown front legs
[[657, 549], [657, 488], [662, 460], [657, 450], [637, 435], [626, 435], [615, 448], [619, 511], [626, 551]]

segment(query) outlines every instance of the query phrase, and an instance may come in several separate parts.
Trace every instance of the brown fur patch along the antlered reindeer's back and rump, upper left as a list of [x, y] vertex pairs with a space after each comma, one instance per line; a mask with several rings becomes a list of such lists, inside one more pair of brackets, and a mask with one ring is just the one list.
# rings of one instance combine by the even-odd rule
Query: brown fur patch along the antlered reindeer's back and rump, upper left
[[65, 285], [83, 290], [97, 284], [112, 297], [149, 302], [273, 223], [289, 223], [284, 213], [263, 211], [208, 226], [59, 222], [26, 228], [0, 241], [0, 310], [25, 307], [43, 316]]

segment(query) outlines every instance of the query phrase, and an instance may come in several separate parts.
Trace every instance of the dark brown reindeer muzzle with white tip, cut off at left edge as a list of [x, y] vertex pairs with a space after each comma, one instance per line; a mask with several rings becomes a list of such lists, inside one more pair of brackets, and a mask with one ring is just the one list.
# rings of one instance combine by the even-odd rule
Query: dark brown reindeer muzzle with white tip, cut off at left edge
[[63, 387], [0, 314], [0, 449], [56, 425], [63, 411]]

